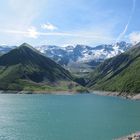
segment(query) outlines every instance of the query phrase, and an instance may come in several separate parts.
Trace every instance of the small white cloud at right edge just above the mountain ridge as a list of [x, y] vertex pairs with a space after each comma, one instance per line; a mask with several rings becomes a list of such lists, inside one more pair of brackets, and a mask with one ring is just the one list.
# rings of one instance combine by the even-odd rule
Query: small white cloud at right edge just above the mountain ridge
[[140, 42], [140, 32], [132, 32], [129, 35], [129, 40], [133, 44], [136, 44], [136, 43]]

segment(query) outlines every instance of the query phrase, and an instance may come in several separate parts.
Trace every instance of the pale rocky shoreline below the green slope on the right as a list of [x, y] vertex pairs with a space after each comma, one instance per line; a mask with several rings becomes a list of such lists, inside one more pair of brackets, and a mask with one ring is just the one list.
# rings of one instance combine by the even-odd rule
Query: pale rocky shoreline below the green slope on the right
[[127, 95], [127, 93], [121, 93], [120, 92], [111, 92], [111, 91], [90, 91], [92, 94], [100, 95], [100, 96], [117, 96], [122, 97], [124, 99], [131, 99], [131, 100], [140, 100], [140, 94], [136, 95]]

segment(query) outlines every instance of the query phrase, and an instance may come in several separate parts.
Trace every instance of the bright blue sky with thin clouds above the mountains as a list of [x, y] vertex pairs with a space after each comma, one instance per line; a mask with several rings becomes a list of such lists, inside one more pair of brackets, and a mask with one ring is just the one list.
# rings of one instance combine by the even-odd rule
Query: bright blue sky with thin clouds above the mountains
[[140, 0], [0, 0], [0, 44], [140, 41]]

